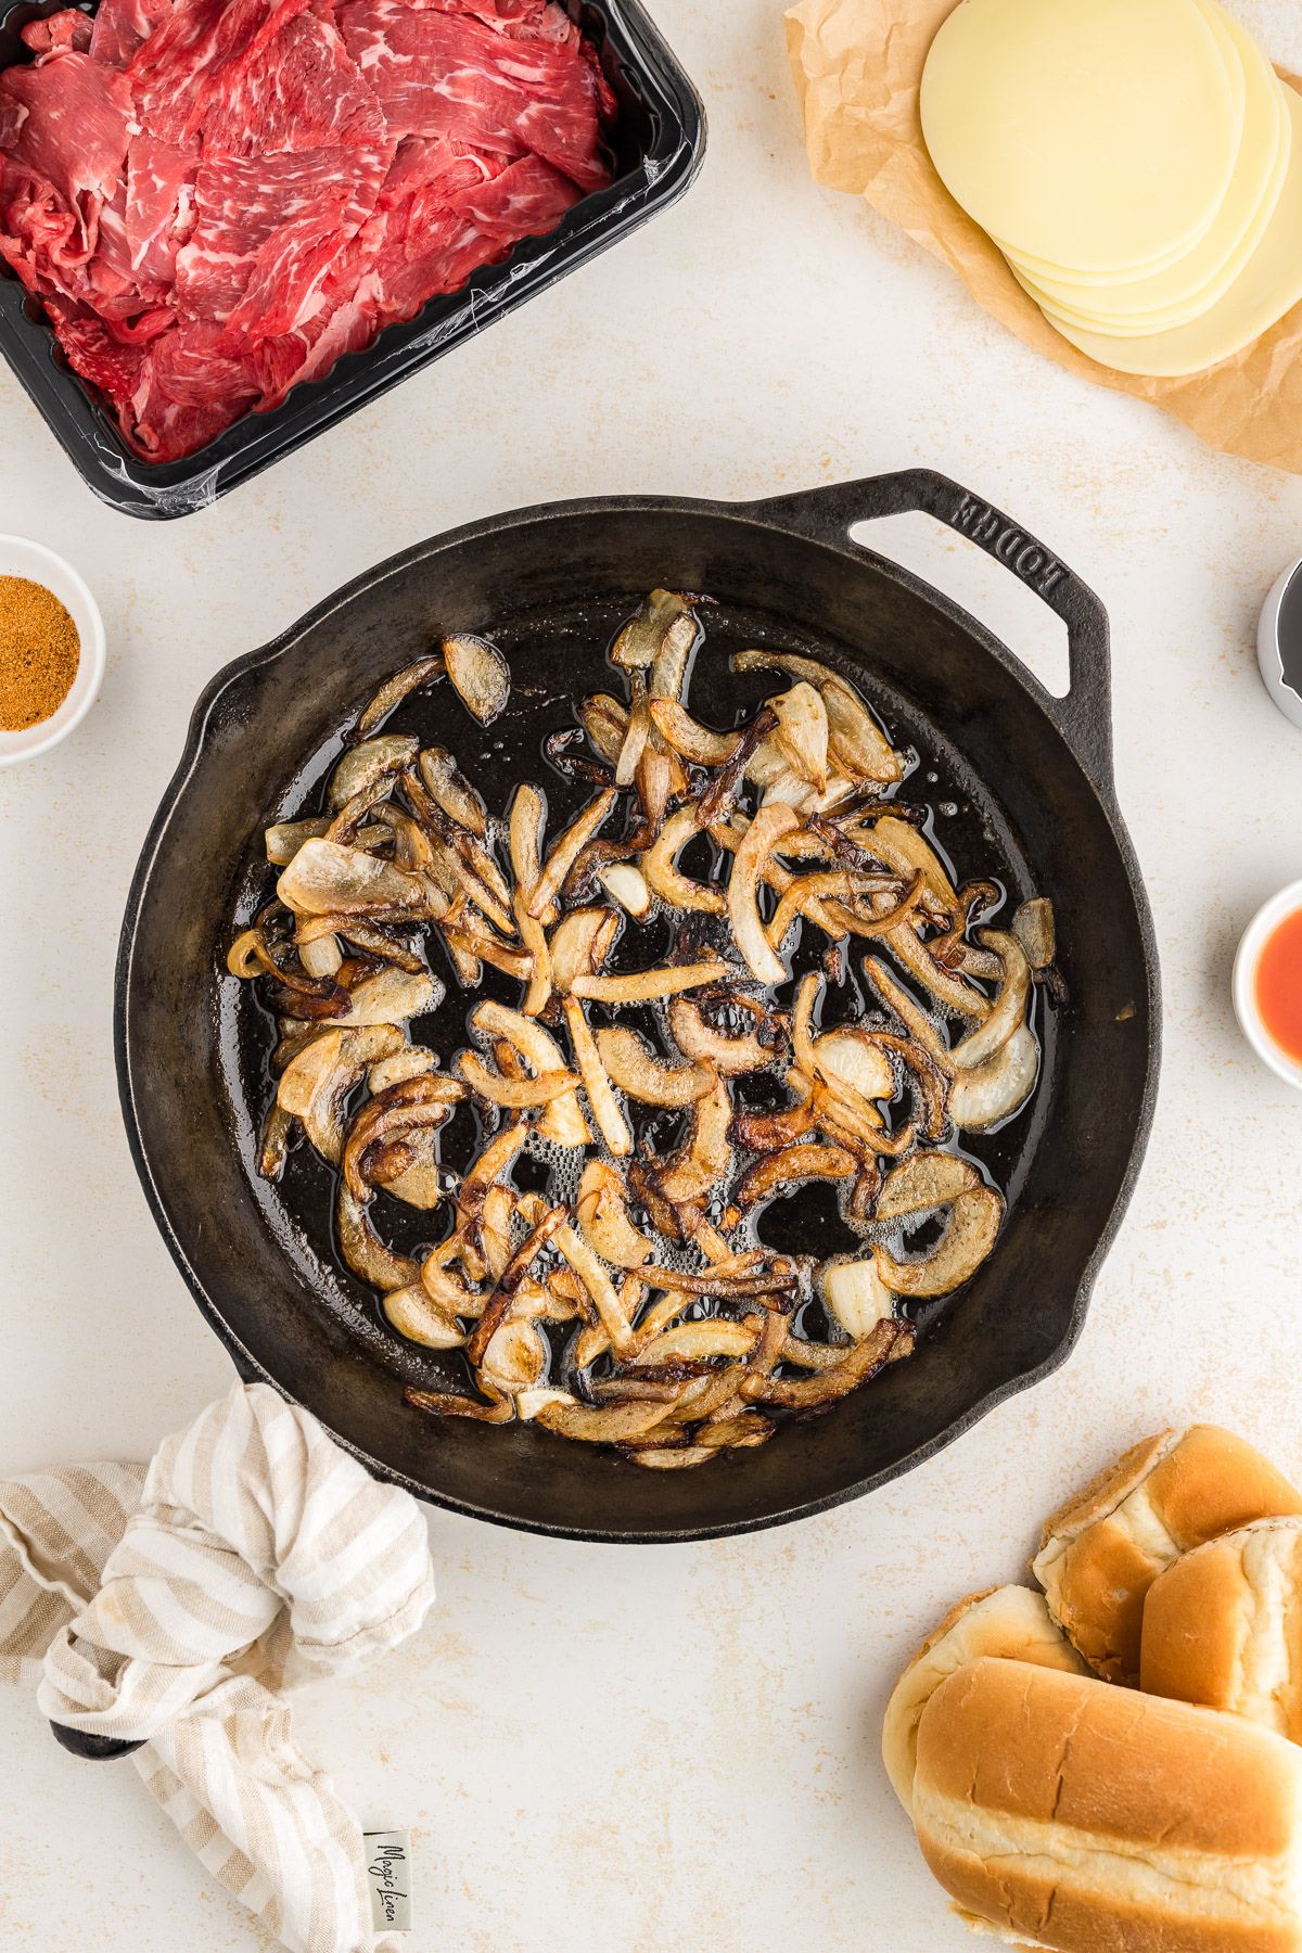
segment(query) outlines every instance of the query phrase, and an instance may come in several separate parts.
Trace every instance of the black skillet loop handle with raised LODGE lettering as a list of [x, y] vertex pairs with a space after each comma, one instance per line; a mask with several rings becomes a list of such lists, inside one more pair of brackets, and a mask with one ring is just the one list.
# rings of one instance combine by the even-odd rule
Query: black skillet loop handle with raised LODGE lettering
[[[951, 482], [931, 469], [900, 475], [871, 475], [832, 488], [806, 488], [757, 504], [765, 518], [816, 543], [849, 541], [849, 529], [876, 516], [906, 516], [921, 510], [949, 529], [966, 535], [988, 557], [1001, 562], [1019, 582], [1035, 590], [1068, 627], [1070, 684], [1062, 699], [1023, 670], [1023, 682], [1054, 721], [1089, 777], [1105, 793], [1113, 787], [1113, 701], [1109, 682], [1107, 611], [1093, 590], [1068, 570], [1029, 529], [1001, 510]], [[859, 547], [859, 545], [851, 545]]]

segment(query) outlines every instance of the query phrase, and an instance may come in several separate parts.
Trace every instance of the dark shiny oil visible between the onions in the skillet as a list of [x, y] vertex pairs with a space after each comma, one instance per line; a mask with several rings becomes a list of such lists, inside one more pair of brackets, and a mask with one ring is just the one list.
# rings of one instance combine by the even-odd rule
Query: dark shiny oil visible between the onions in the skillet
[[[506, 631], [496, 631], [496, 641], [511, 660], [515, 682], [511, 703], [492, 728], [484, 730], [467, 715], [449, 711], [447, 693], [435, 689], [408, 699], [385, 730], [410, 730], [418, 732], [426, 742], [433, 740], [449, 746], [467, 777], [482, 783], [490, 812], [498, 816], [509, 805], [515, 781], [535, 779], [545, 783], [549, 832], [558, 830], [588, 803], [593, 785], [588, 779], [568, 779], [564, 769], [556, 768], [547, 754], [547, 738], [552, 732], [576, 727], [576, 701], [584, 693], [611, 689], [611, 670], [603, 654], [605, 643], [615, 635], [619, 623], [634, 607], [634, 602], [636, 596], [629, 603], [611, 600], [609, 605], [603, 605], [601, 615], [588, 619], [582, 635], [576, 633], [572, 621], [566, 621], [564, 629], [552, 633], [545, 615], [531, 615], [527, 625], [521, 623]], [[769, 619], [734, 609], [732, 605], [711, 607], [707, 644], [693, 670], [689, 689], [691, 709], [707, 725], [722, 728], [744, 721], [757, 709], [765, 693], [773, 689], [773, 674], [734, 674], [730, 670], [728, 652], [755, 643], [773, 643], [775, 648], [796, 648], [835, 666], [835, 660], [828, 658], [824, 644], [793, 644], [787, 627], [777, 631]], [[865, 697], [876, 705], [871, 674], [855, 672], [855, 682]], [[939, 846], [951, 871], [956, 871], [956, 879], [966, 879], [966, 875], [978, 869], [990, 873], [994, 865], [999, 865], [1005, 902], [1011, 900], [1015, 904], [1019, 898], [1031, 894], [1029, 873], [1017, 861], [1015, 850], [1009, 850], [1007, 836], [999, 834], [996, 838], [999, 822], [994, 809], [984, 805], [982, 797], [972, 791], [972, 783], [960, 775], [953, 754], [941, 756], [937, 752], [935, 728], [915, 719], [900, 699], [880, 701], [878, 709], [896, 744], [910, 756], [910, 779], [898, 799], [902, 807], [910, 803], [917, 807], [919, 814], [925, 809], [919, 824], [933, 846]], [[586, 740], [576, 740], [568, 750], [578, 754], [590, 752]], [[283, 805], [277, 807], [277, 814], [291, 818], [322, 809], [324, 779], [334, 760], [338, 760], [338, 738], [322, 746], [322, 752], [301, 771], [303, 789], [287, 795]], [[711, 844], [703, 836], [697, 838], [683, 852], [679, 865], [689, 875], [709, 879]], [[248, 891], [250, 914], [269, 898], [273, 883], [273, 871], [262, 865]], [[997, 906], [1003, 908], [1003, 902]], [[701, 926], [709, 924], [709, 918], [697, 920]], [[683, 918], [670, 918], [666, 914], [658, 914], [648, 926], [627, 926], [611, 957], [611, 967], [632, 969], [654, 965], [671, 949], [681, 926]], [[707, 945], [701, 943], [701, 947]], [[800, 975], [804, 969], [822, 967], [824, 949], [826, 945], [816, 939], [802, 941], [794, 957], [794, 975]], [[867, 998], [859, 982], [861, 955], [863, 949], [847, 959], [843, 982], [828, 984], [820, 1010], [824, 1027], [835, 1021], [853, 1021], [865, 1012]], [[515, 1004], [519, 986], [509, 976], [486, 967], [482, 986], [470, 996], [459, 988], [451, 971], [437, 957], [435, 971], [447, 982], [447, 996], [429, 1018], [412, 1023], [412, 1039], [427, 1043], [447, 1062], [453, 1051], [474, 1043], [467, 1025], [467, 1014], [472, 1004], [480, 996], [496, 996], [500, 1002]], [[252, 996], [252, 988], [240, 986], [238, 1000], [242, 1018], [240, 1082], [244, 1103], [260, 1119], [267, 1098], [275, 1090], [267, 1068], [269, 1053], [275, 1045], [275, 1021]], [[771, 1008], [789, 1008], [793, 988], [793, 984], [783, 984], [779, 990], [769, 992], [765, 1002]], [[923, 1004], [925, 1000], [917, 998], [917, 1002]], [[621, 1012], [607, 1012], [605, 1006], [597, 1006], [593, 1021], [629, 1023], [654, 1041], [662, 1029], [654, 1010], [636, 1012], [625, 1008]], [[1037, 1035], [1044, 1039], [1046, 1033], [1050, 1039], [1046, 1066], [1052, 1068], [1052, 1025], [1046, 1021], [1046, 1014], [1037, 1010]], [[738, 1086], [738, 1096], [744, 1101], [753, 1096], [757, 1105], [765, 1105], [771, 1098], [781, 1101], [785, 1096], [781, 1090], [775, 1092], [775, 1086], [777, 1074], [755, 1074], [744, 1082], [744, 1088]], [[1033, 1105], [1038, 1100], [1040, 1094], [1037, 1094]], [[629, 1113], [634, 1137], [642, 1137], [642, 1111], [629, 1107]], [[1035, 1117], [1035, 1111], [1029, 1117], [1021, 1113], [1007, 1123], [1007, 1129], [964, 1135], [960, 1150], [974, 1160], [984, 1178], [1015, 1193], [1025, 1168], [1027, 1148], [1033, 1143]], [[664, 1129], [656, 1129], [650, 1137], [658, 1152], [670, 1152], [681, 1135], [666, 1121]], [[443, 1146], [443, 1168], [449, 1176], [449, 1187], [457, 1184], [459, 1174], [476, 1156], [482, 1141], [484, 1129], [480, 1117], [472, 1111], [449, 1125]], [[560, 1166], [570, 1168], [570, 1178], [574, 1178], [574, 1162], [547, 1158], [543, 1148], [531, 1148], [531, 1156], [519, 1164], [517, 1182], [521, 1185], [527, 1182], [537, 1191], [547, 1193], [554, 1189], [560, 1193], [564, 1191], [558, 1185], [556, 1174]], [[310, 1242], [314, 1258], [320, 1258], [324, 1267], [328, 1266], [330, 1283], [322, 1291], [324, 1307], [338, 1309], [340, 1305], [330, 1301], [330, 1297], [340, 1291], [347, 1301], [349, 1312], [355, 1310], [369, 1320], [379, 1320], [381, 1309], [375, 1295], [349, 1275], [338, 1258], [338, 1248], [332, 1244], [334, 1172], [312, 1148], [306, 1144], [295, 1146], [281, 1182], [275, 1185], [264, 1184], [262, 1193], [281, 1217], [285, 1230], [295, 1238]], [[394, 1250], [416, 1258], [435, 1246], [453, 1225], [451, 1207], [424, 1213], [404, 1207], [383, 1191], [375, 1201], [375, 1221], [377, 1230]], [[857, 1230], [843, 1225], [839, 1201], [834, 1191], [818, 1185], [802, 1187], [793, 1195], [773, 1201], [769, 1209], [753, 1217], [752, 1228], [759, 1240], [771, 1246], [781, 1246], [794, 1254], [814, 1254], [816, 1258], [853, 1252], [857, 1246], [861, 1248], [863, 1240]], [[921, 1246], [921, 1242], [915, 1242], [915, 1246]], [[818, 1305], [808, 1303], [806, 1307], [812, 1328]], [[917, 1305], [910, 1309], [910, 1314], [925, 1330], [947, 1309], [949, 1297]], [[433, 1389], [465, 1385], [459, 1351], [427, 1351], [420, 1346], [404, 1344], [383, 1320], [379, 1326], [385, 1338], [381, 1355], [406, 1381]], [[554, 1342], [552, 1379], [558, 1375], [564, 1377], [564, 1353], [560, 1348], [564, 1336], [558, 1334]]]

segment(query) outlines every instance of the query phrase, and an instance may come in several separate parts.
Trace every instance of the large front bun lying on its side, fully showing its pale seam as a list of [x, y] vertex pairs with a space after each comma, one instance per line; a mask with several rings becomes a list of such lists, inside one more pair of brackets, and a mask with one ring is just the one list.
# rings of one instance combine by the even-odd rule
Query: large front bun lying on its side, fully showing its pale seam
[[964, 1914], [1056, 1953], [1302, 1953], [1302, 1750], [982, 1658], [917, 1726], [914, 1824]]

